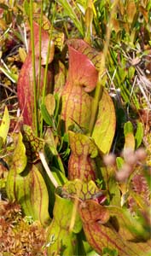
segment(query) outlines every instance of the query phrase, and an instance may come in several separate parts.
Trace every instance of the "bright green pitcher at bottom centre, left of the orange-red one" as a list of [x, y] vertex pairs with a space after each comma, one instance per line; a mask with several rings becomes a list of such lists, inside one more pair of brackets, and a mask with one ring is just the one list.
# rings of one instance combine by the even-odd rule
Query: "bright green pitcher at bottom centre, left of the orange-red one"
[[[77, 237], [81, 228], [81, 220], [76, 215], [73, 231], [69, 230], [73, 214], [73, 202], [55, 195], [54, 218], [48, 230], [48, 254], [53, 255], [77, 255]], [[53, 241], [52, 241], [53, 236]]]

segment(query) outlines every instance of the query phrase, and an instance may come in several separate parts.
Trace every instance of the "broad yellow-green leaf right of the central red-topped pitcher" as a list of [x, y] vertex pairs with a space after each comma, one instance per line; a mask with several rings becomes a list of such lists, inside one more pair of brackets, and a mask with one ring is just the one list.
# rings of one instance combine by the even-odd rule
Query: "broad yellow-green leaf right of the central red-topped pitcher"
[[94, 138], [98, 148], [100, 148], [104, 154], [109, 153], [112, 146], [115, 126], [116, 119], [113, 101], [107, 94], [107, 91], [103, 90], [102, 99], [99, 102], [99, 112], [92, 137]]

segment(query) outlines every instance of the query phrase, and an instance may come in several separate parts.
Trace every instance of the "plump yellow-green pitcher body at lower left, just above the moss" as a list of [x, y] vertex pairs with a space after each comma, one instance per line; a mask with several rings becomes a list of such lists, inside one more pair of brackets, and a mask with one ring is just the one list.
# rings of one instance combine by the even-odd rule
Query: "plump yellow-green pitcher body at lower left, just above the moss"
[[12, 165], [6, 189], [9, 200], [18, 201], [26, 216], [32, 216], [46, 226], [50, 221], [49, 195], [38, 168], [39, 166], [28, 165], [24, 172], [18, 174], [15, 165]]

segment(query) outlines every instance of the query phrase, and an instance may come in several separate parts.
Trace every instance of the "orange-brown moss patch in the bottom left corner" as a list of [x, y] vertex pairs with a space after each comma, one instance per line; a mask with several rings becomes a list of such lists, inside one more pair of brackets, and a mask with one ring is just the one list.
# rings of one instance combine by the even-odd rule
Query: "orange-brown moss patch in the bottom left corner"
[[45, 230], [38, 221], [27, 222], [15, 202], [0, 201], [0, 256], [46, 255], [44, 242]]

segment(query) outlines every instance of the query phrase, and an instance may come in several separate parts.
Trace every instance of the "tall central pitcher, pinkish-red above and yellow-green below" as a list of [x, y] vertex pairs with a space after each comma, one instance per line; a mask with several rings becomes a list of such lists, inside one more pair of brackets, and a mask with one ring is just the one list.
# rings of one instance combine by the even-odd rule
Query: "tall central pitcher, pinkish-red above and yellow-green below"
[[[88, 47], [84, 41], [79, 42], [79, 45], [85, 44], [85, 47]], [[69, 41], [69, 70], [67, 83], [62, 92], [61, 117], [66, 122], [66, 129], [73, 121], [88, 128], [92, 97], [87, 92], [96, 88], [98, 72], [88, 56], [73, 47]]]

